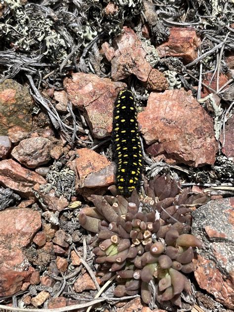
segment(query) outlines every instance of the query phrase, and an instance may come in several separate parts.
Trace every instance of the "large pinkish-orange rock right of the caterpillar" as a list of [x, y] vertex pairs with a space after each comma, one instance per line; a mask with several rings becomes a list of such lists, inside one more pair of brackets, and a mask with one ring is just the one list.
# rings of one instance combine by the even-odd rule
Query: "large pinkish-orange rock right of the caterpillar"
[[213, 119], [191, 91], [152, 92], [138, 122], [146, 143], [152, 144], [147, 149], [152, 156], [164, 154], [195, 167], [214, 163], [218, 144]]

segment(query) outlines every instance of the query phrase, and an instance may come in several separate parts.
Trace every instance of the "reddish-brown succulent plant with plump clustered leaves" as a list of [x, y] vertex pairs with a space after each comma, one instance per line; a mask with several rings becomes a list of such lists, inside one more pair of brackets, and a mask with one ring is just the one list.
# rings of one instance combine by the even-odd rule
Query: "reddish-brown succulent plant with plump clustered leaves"
[[181, 191], [169, 175], [156, 176], [144, 182], [145, 196], [92, 195], [95, 207], [79, 213], [80, 225], [97, 233], [93, 253], [100, 264], [102, 280], [117, 273], [114, 290], [117, 297], [141, 292], [142, 300], [152, 300], [150, 282], [156, 289], [156, 300], [170, 300], [181, 307], [180, 294], [190, 292], [184, 275], [194, 271], [194, 247], [201, 241], [188, 234], [191, 210], [185, 205], [207, 201], [202, 195]]

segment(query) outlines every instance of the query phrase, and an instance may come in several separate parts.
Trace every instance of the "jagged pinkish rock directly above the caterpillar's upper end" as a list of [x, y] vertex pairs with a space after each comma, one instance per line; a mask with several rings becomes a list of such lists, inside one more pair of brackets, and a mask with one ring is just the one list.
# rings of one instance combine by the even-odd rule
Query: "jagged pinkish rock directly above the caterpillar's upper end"
[[124, 26], [123, 34], [118, 36], [115, 41], [117, 50], [111, 61], [112, 78], [117, 81], [133, 74], [139, 80], [147, 81], [152, 67], [146, 61], [147, 52], [143, 49], [142, 42], [134, 31]]

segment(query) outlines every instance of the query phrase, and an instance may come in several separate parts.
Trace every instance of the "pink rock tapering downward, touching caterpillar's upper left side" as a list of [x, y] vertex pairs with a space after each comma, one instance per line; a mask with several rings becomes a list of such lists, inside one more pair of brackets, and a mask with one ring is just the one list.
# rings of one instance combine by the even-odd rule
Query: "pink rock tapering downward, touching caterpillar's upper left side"
[[64, 79], [64, 88], [72, 104], [83, 110], [95, 138], [111, 135], [114, 103], [123, 82], [100, 78], [92, 74], [76, 73]]

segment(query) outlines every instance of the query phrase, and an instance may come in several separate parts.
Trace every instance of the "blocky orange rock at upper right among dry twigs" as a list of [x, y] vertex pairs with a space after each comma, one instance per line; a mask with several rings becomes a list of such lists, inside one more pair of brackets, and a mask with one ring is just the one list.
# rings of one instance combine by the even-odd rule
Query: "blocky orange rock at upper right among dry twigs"
[[194, 61], [197, 57], [197, 47], [200, 39], [193, 27], [172, 27], [169, 38], [156, 49], [159, 57], [182, 57], [185, 63]]

